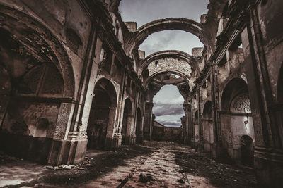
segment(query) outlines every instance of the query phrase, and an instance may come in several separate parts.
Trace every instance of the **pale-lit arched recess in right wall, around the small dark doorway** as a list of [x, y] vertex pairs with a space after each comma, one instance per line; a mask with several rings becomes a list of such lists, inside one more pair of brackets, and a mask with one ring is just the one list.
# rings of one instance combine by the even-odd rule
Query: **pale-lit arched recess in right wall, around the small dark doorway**
[[248, 86], [241, 78], [226, 84], [221, 96], [220, 117], [222, 144], [231, 158], [241, 162], [241, 156], [246, 155], [241, 150], [241, 137], [247, 135], [255, 140]]

